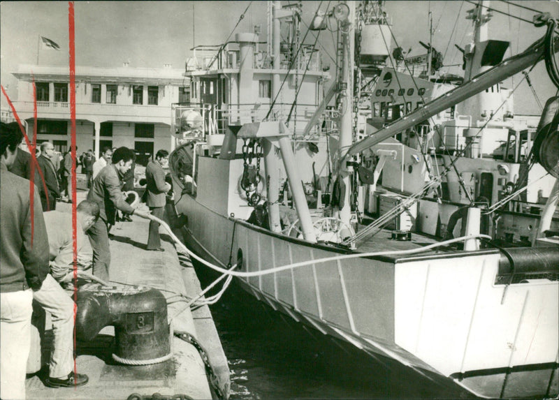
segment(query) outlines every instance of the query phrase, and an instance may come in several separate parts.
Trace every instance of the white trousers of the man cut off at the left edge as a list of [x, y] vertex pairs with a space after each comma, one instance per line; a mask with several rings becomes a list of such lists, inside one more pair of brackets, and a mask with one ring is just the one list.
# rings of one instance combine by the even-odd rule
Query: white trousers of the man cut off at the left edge
[[33, 290], [0, 293], [0, 398], [25, 399]]

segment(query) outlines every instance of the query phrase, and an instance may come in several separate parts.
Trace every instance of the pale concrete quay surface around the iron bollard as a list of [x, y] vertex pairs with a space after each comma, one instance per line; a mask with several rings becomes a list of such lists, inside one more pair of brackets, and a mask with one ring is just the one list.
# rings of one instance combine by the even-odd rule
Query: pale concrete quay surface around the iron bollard
[[[87, 191], [78, 189], [78, 202], [86, 195]], [[59, 203], [57, 210], [71, 212], [71, 205]], [[168, 299], [171, 329], [188, 332], [198, 340], [217, 376], [217, 386], [228, 397], [228, 364], [210, 310], [208, 306], [196, 311], [185, 307], [189, 299], [201, 292], [188, 255], [177, 253], [164, 228], [160, 228], [164, 251], [147, 251], [149, 221], [138, 216], [132, 216], [132, 219], [132, 222], [117, 222], [110, 230], [111, 283], [161, 290]], [[147, 366], [124, 366], [111, 357], [114, 335], [114, 327], [110, 326], [102, 329], [93, 341], [78, 341], [75, 365], [78, 373], [89, 376], [87, 385], [59, 389], [46, 387], [44, 379], [48, 367], [45, 366], [40, 372], [28, 376], [27, 399], [127, 399], [131, 394], [147, 399], [156, 393], [164, 396], [184, 394], [193, 399], [216, 398], [208, 383], [210, 374], [192, 344], [173, 336], [170, 343], [173, 357], [170, 360]], [[48, 316], [42, 346], [43, 363], [49, 360], [51, 341], [52, 325]]]

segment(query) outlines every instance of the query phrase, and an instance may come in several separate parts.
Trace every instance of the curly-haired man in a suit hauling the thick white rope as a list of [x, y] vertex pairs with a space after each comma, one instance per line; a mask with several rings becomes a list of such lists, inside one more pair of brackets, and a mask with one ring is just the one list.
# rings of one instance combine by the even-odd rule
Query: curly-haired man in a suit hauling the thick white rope
[[127, 214], [150, 218], [150, 214], [134, 209], [122, 195], [122, 177], [132, 165], [136, 154], [128, 147], [119, 147], [112, 154], [112, 163], [95, 177], [87, 200], [99, 205], [99, 219], [89, 229], [89, 241], [93, 248], [93, 274], [103, 281], [109, 280], [110, 248], [108, 225], [115, 224], [117, 209]]

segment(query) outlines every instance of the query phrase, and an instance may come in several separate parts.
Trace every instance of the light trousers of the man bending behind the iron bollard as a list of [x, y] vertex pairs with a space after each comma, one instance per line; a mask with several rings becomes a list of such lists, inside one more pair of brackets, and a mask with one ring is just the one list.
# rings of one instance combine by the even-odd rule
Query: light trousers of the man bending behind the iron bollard
[[49, 376], [66, 378], [73, 369], [74, 302], [48, 274], [33, 299], [52, 316], [54, 343], [50, 354]]

